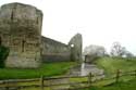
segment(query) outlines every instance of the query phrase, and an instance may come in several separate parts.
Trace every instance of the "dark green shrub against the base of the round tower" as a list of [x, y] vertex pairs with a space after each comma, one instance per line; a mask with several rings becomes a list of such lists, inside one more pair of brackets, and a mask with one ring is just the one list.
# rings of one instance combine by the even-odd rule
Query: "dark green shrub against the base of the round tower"
[[4, 67], [4, 61], [9, 55], [9, 51], [8, 48], [0, 46], [0, 67]]

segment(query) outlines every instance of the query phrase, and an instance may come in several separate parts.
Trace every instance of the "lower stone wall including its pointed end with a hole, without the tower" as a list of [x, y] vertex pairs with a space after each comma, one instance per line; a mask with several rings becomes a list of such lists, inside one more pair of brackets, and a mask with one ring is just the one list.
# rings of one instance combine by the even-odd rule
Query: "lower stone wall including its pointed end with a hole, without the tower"
[[[42, 61], [81, 61], [82, 60], [82, 35], [75, 35], [69, 44], [41, 37]], [[72, 47], [73, 46], [73, 47]]]

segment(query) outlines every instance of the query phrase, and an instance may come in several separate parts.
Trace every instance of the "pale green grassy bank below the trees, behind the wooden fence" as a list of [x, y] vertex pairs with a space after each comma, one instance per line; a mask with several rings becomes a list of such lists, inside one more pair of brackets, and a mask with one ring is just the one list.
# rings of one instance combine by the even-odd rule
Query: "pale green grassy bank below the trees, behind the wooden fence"
[[103, 68], [106, 74], [110, 76], [116, 73], [118, 69], [122, 72], [136, 70], [136, 60], [101, 57], [95, 62], [100, 68]]

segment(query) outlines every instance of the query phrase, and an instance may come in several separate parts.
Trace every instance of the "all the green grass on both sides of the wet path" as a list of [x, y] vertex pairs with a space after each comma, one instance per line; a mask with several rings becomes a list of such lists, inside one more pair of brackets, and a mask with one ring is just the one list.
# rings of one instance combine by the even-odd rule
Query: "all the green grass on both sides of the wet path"
[[[122, 72], [131, 72], [136, 69], [135, 60], [124, 60], [124, 59], [112, 59], [112, 57], [101, 57], [95, 62], [99, 68], [103, 68], [108, 77], [111, 77], [113, 73], [115, 74], [118, 69]], [[41, 75], [50, 77], [65, 74], [72, 66], [75, 66], [74, 62], [59, 62], [59, 63], [47, 63], [44, 64], [38, 69], [17, 69], [17, 68], [1, 68], [0, 79], [8, 78], [36, 78]], [[86, 80], [83, 79], [70, 79], [74, 81]], [[92, 83], [94, 87], [87, 90], [136, 90], [136, 77], [135, 76], [123, 76], [120, 77], [118, 83], [114, 83], [115, 79], [98, 81]], [[110, 83], [110, 85], [109, 85]], [[108, 86], [104, 86], [108, 85]], [[26, 90], [37, 90], [37, 88], [26, 89]], [[86, 89], [84, 89], [86, 90]]]

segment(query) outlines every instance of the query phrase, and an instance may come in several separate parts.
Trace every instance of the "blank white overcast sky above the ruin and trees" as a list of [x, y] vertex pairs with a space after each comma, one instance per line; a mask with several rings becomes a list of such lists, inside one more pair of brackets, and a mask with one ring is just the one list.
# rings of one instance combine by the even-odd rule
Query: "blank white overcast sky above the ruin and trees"
[[114, 41], [136, 54], [136, 0], [0, 0], [23, 2], [42, 10], [42, 35], [67, 43], [77, 33], [84, 47], [110, 50]]

